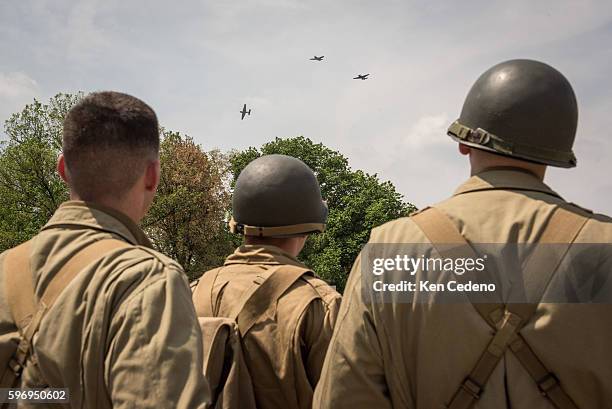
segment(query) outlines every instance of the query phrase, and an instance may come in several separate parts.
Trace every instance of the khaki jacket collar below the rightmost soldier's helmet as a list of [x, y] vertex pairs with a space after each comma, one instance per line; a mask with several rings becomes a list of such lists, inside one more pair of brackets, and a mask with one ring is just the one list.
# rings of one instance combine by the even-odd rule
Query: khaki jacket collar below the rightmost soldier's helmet
[[562, 197], [542, 182], [533, 173], [517, 168], [491, 168], [482, 171], [463, 183], [455, 191], [454, 196], [468, 192], [483, 190], [528, 190]]

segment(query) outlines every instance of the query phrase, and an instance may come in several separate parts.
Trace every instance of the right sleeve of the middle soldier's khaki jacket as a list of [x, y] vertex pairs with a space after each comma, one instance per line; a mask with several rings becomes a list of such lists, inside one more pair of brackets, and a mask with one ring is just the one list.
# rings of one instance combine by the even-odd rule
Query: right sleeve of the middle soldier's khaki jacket
[[338, 317], [340, 301], [339, 295], [328, 302], [317, 298], [310, 303], [305, 312], [302, 322], [303, 359], [306, 375], [313, 389], [321, 376], [325, 354]]

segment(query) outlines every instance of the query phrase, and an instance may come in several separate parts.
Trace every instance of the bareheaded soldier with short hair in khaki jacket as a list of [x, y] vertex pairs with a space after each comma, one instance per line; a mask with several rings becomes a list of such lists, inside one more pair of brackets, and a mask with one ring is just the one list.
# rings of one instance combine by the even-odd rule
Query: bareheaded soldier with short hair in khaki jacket
[[62, 150], [70, 201], [0, 256], [2, 387], [67, 388], [73, 408], [205, 407], [186, 276], [138, 227], [160, 177], [155, 112], [93, 93], [66, 116]]

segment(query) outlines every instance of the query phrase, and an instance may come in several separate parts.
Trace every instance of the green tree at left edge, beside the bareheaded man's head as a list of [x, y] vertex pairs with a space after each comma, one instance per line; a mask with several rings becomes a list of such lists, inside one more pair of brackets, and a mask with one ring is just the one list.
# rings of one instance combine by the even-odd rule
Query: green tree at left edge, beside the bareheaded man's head
[[0, 251], [28, 240], [68, 198], [55, 171], [62, 123], [82, 94], [58, 94], [43, 104], [34, 100], [4, 125], [0, 143]]

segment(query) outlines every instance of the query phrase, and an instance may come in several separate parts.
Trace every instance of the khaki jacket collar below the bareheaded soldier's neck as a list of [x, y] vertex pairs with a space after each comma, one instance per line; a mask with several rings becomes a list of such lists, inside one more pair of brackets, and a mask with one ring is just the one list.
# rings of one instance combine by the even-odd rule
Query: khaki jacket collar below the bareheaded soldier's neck
[[97, 203], [77, 200], [64, 202], [43, 230], [66, 226], [113, 233], [132, 244], [152, 247], [147, 236], [132, 219], [118, 210]]

